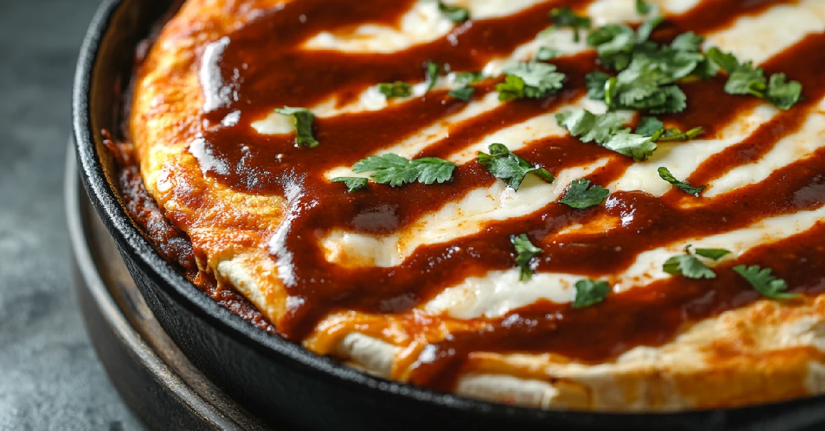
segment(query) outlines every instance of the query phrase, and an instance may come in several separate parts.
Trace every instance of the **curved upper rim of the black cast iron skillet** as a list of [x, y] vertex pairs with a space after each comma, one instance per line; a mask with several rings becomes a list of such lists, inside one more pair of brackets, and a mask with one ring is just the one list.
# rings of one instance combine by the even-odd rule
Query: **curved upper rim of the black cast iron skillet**
[[[633, 426], [635, 420], [662, 420], [662, 425], [671, 426], [676, 423], [682, 425], [707, 426], [719, 424], [724, 426], [725, 420], [719, 414], [735, 413], [748, 415], [757, 409], [791, 408], [794, 405], [805, 407], [809, 404], [823, 403], [825, 394], [808, 396], [799, 399], [775, 401], [758, 405], [742, 405], [731, 408], [693, 409], [669, 412], [600, 412], [588, 410], [542, 410], [533, 407], [504, 405], [489, 401], [476, 400], [450, 393], [433, 391], [428, 388], [413, 386], [408, 383], [374, 377], [365, 372], [348, 367], [332, 358], [314, 354], [283, 339], [280, 335], [271, 335], [259, 330], [241, 316], [230, 312], [225, 307], [214, 302], [204, 295], [193, 283], [174, 269], [154, 249], [149, 241], [140, 232], [139, 227], [126, 213], [115, 185], [106, 176], [101, 154], [98, 151], [101, 138], [99, 132], [92, 131], [92, 81], [97, 68], [100, 48], [107, 34], [111, 30], [111, 19], [118, 8], [134, 0], [102, 0], [97, 12], [88, 26], [87, 33], [82, 40], [78, 56], [77, 68], [73, 81], [72, 92], [72, 128], [73, 142], [78, 159], [78, 171], [83, 188], [89, 195], [93, 207], [103, 220], [107, 230], [115, 238], [120, 252], [127, 253], [139, 269], [153, 283], [165, 287], [164, 291], [175, 298], [195, 316], [206, 321], [215, 329], [229, 335], [233, 340], [263, 354], [267, 359], [281, 361], [295, 372], [304, 372], [314, 375], [328, 383], [344, 386], [353, 391], [372, 392], [368, 396], [389, 395], [402, 401], [416, 401], [429, 405], [462, 410], [474, 415], [491, 415], [497, 418], [515, 418], [530, 422], [544, 422], [550, 424], [554, 419], [563, 419], [560, 424], [578, 423], [583, 426], [622, 427], [616, 421], [624, 422], [624, 426]], [[163, 0], [171, 6], [175, 0]], [[130, 46], [134, 49], [135, 46]], [[105, 65], [100, 66], [106, 67]], [[708, 417], [705, 417], [708, 416]], [[635, 420], [634, 420], [635, 419]], [[625, 422], [626, 421], [626, 422]], [[770, 422], [770, 421], [769, 421]], [[690, 425], [688, 425], [690, 426]]]

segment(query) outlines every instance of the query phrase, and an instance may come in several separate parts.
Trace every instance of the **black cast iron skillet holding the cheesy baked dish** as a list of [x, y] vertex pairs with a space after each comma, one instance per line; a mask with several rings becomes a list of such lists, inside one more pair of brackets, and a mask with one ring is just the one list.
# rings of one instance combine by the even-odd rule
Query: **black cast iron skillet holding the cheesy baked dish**
[[104, 0], [94, 17], [73, 93], [82, 182], [172, 340], [217, 385], [276, 428], [797, 430], [825, 424], [825, 396], [675, 414], [546, 411], [474, 401], [370, 377], [219, 306], [168, 265], [127, 216], [112, 181], [115, 164], [101, 143], [101, 129], [119, 126], [115, 113], [135, 48], [170, 7], [172, 0]]

